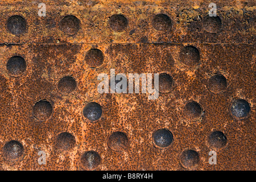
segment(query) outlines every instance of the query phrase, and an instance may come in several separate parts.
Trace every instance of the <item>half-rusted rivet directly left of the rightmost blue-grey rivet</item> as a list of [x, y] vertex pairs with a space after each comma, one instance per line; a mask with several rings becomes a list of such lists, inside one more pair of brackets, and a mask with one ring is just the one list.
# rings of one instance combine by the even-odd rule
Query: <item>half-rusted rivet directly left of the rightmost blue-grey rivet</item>
[[196, 121], [201, 118], [202, 114], [202, 107], [195, 101], [188, 102], [183, 108], [183, 116], [188, 121]]

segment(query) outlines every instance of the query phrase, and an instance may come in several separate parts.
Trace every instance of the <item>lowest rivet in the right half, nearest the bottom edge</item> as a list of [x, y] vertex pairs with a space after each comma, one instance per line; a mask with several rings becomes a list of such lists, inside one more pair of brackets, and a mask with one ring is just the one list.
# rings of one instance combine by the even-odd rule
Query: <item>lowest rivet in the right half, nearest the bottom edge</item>
[[199, 154], [195, 150], [184, 150], [180, 154], [180, 164], [184, 168], [193, 168], [199, 164]]

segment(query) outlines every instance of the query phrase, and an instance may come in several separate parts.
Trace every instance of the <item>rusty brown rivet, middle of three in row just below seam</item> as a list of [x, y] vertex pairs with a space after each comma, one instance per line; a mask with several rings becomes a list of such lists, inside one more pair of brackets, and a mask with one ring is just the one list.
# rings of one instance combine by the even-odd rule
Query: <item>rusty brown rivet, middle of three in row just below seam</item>
[[90, 49], [86, 52], [85, 62], [89, 67], [98, 67], [104, 61], [104, 55], [100, 49]]

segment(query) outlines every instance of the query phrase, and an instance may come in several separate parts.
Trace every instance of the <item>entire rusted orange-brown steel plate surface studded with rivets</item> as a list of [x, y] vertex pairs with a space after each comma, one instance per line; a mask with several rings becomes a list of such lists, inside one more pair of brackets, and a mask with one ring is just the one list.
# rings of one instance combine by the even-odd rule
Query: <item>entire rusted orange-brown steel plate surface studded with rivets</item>
[[[0, 2], [1, 170], [256, 169], [255, 2], [39, 3]], [[110, 69], [159, 97], [98, 93]]]

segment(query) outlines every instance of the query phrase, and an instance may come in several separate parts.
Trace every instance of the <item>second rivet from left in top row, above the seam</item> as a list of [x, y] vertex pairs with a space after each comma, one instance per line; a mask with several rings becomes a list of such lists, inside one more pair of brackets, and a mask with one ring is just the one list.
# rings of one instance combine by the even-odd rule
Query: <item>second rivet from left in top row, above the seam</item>
[[80, 20], [73, 15], [67, 15], [60, 20], [60, 30], [68, 35], [75, 35], [80, 29]]

